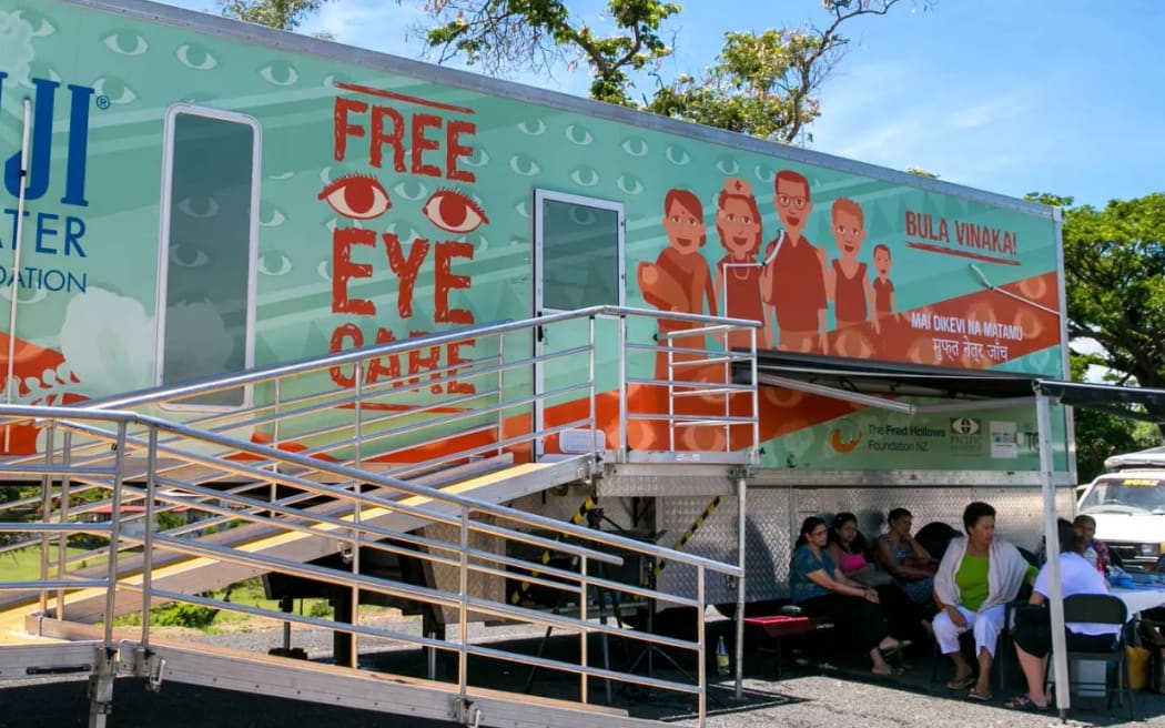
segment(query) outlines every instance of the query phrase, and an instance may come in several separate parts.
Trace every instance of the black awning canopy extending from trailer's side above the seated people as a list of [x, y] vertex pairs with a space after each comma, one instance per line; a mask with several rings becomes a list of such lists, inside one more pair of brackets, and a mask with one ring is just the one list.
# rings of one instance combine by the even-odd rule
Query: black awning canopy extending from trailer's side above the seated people
[[[1030, 404], [1042, 394], [1058, 404], [1165, 422], [1159, 416], [1124, 407], [1139, 404], [1165, 410], [1165, 390], [1065, 382], [1015, 372], [762, 351], [757, 352], [757, 375], [761, 384], [910, 414]], [[947, 403], [919, 405], [899, 402], [897, 397], [931, 397]]]

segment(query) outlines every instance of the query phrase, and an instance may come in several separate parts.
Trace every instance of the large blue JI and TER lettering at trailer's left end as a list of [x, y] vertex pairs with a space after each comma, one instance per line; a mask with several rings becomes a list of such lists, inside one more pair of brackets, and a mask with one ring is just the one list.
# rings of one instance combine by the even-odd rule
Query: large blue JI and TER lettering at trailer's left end
[[[42, 255], [76, 255], [86, 257], [82, 246], [85, 235], [85, 220], [77, 214], [70, 214], [68, 208], [89, 206], [85, 197], [85, 172], [89, 157], [89, 120], [90, 107], [94, 103], [94, 91], [89, 86], [69, 84], [63, 93], [61, 83], [47, 78], [34, 78], [31, 100], [31, 134], [28, 143], [28, 158], [24, 167], [28, 176], [21, 176], [22, 150], [15, 149], [3, 163], [3, 186], [8, 200], [0, 212], [7, 222], [0, 220], [0, 249], [12, 249], [16, 242], [17, 200], [21, 186], [24, 191], [23, 232], [21, 234], [24, 252]], [[14, 89], [8, 84], [8, 75], [0, 71], [0, 104], [3, 93]], [[66, 111], [65, 107], [68, 106]], [[22, 109], [23, 104], [14, 108]], [[52, 170], [52, 126], [61, 108], [63, 118], [68, 119], [65, 133], [65, 169], [63, 179], [54, 179]], [[22, 114], [22, 112], [17, 112]], [[22, 128], [23, 119], [17, 119]], [[17, 139], [22, 137], [17, 136]], [[59, 195], [59, 197], [57, 197]], [[64, 210], [56, 207], [64, 206]], [[8, 273], [8, 271], [5, 271]], [[8, 276], [5, 276], [6, 278]], [[16, 278], [15, 274], [12, 274]], [[7, 281], [0, 281], [0, 284]]]

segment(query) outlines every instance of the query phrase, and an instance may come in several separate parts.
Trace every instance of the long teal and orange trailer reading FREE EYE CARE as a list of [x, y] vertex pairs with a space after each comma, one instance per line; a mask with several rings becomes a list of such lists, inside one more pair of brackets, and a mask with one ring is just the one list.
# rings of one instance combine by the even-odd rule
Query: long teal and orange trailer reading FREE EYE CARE
[[[723, 427], [672, 436], [633, 419], [637, 457], [596, 485], [608, 515], [622, 502], [630, 517], [633, 500], [649, 499], [655, 522], [634, 526], [678, 537], [746, 466], [749, 566], [768, 575], [749, 580], [749, 600], [784, 594], [790, 544], [811, 514], [853, 510], [876, 532], [891, 507], [956, 523], [981, 499], [1007, 514], [1004, 536], [1038, 543], [1029, 407], [910, 415], [839, 400], [854, 377], [828, 391], [790, 380], [812, 382], [833, 360], [882, 367], [891, 396], [895, 380], [931, 367], [970, 383], [931, 393], [954, 396], [980, 396], [988, 372], [1061, 376], [1051, 210], [169, 7], [2, 7], [10, 401], [112, 397], [586, 305], [727, 308], [765, 320], [760, 370], [776, 377], [760, 388], [758, 441], [744, 444], [755, 462], [684, 455], [725, 450]], [[655, 346], [678, 327], [647, 321], [629, 337]], [[747, 347], [747, 332], [734, 335], [730, 347]], [[363, 383], [456, 367], [471, 341], [382, 361]], [[821, 359], [802, 366], [792, 349]], [[641, 355], [627, 377], [683, 380], [685, 355], [671, 369], [665, 355]], [[330, 377], [356, 386], [340, 367]], [[449, 381], [414, 404], [469, 388]], [[241, 409], [264, 394], [216, 396], [186, 409]], [[672, 414], [715, 409], [700, 400], [716, 396], [677, 397]], [[617, 419], [602, 427], [617, 445]], [[35, 430], [12, 430], [9, 452], [35, 450]], [[1066, 486], [1062, 417], [1053, 439]], [[684, 547], [735, 560], [736, 532], [734, 509], [718, 509]], [[728, 584], [713, 591], [735, 601]]]

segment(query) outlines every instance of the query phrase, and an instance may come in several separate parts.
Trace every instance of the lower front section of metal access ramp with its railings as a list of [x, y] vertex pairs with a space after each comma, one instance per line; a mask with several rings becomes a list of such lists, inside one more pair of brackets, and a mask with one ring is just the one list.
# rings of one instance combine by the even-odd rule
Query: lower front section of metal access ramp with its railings
[[[189, 459], [188, 465], [199, 465], [206, 468], [246, 467], [239, 465], [236, 460], [217, 460], [209, 455], [198, 454], [210, 446], [231, 446], [240, 452], [255, 454], [262, 450], [262, 446], [243, 441], [230, 443], [223, 436], [209, 434], [191, 430], [185, 425], [128, 412], [84, 412], [49, 408], [10, 408], [7, 411], [12, 415], [51, 419], [55, 430], [70, 432], [77, 438], [108, 438], [113, 443], [115, 452], [119, 453], [118, 460], [122, 467], [125, 462], [135, 457], [148, 464], [158, 462], [162, 459], [160, 455], [163, 448], [158, 445], [162, 439], [167, 439], [169, 443], [164, 448], [168, 460], [174, 461], [185, 453], [184, 457]], [[110, 426], [111, 424], [113, 426]], [[146, 427], [147, 437], [141, 441], [137, 438], [127, 437], [126, 431], [130, 424]], [[146, 523], [155, 523], [156, 511], [163, 507], [167, 499], [179, 501], [181, 499], [174, 493], [165, 497], [161, 495], [156, 468], [148, 468], [144, 473], [146, 482], [139, 486], [127, 482], [121, 476], [122, 467], [118, 467], [112, 479], [111, 495], [113, 513], [119, 517], [107, 523], [76, 521], [62, 523], [54, 517], [55, 514], [50, 514], [48, 520], [0, 524], [3, 526], [0, 530], [6, 532], [22, 530], [38, 533], [42, 543], [49, 543], [50, 546], [57, 545], [68, 533], [100, 535], [108, 539], [106, 573], [103, 578], [79, 578], [70, 573], [65, 560], [57, 561], [65, 564], [63, 571], [49, 570], [49, 573], [42, 574], [42, 579], [23, 584], [0, 582], [0, 588], [5, 589], [36, 589], [41, 595], [41, 607], [43, 608], [34, 609], [31, 614], [28, 614], [28, 608], [24, 608], [27, 629], [34, 635], [62, 639], [58, 643], [40, 642], [34, 645], [0, 646], [0, 665], [7, 667], [0, 672], [0, 679], [23, 677], [29, 674], [29, 670], [34, 672], [86, 673], [92, 684], [94, 716], [104, 716], [105, 712], [108, 711], [113, 700], [114, 678], [123, 674], [144, 677], [158, 684], [167, 679], [190, 681], [205, 679], [214, 680], [213, 684], [225, 687], [247, 685], [248, 690], [253, 688], [249, 685], [264, 691], [290, 690], [290, 686], [295, 686], [301, 697], [324, 699], [324, 697], [332, 695], [331, 700], [334, 700], [337, 694], [346, 695], [356, 690], [343, 687], [344, 681], [348, 680], [358, 685], [380, 686], [375, 694], [382, 695], [384, 701], [373, 700], [380, 705], [379, 709], [400, 712], [401, 706], [411, 706], [410, 711], [416, 711], [418, 714], [424, 711], [425, 714], [465, 720], [468, 723], [481, 726], [548, 725], [546, 720], [550, 716], [553, 721], [569, 721], [566, 725], [599, 728], [600, 726], [610, 726], [612, 721], [623, 720], [603, 711], [586, 709], [586, 706], [592, 702], [589, 684], [595, 679], [609, 679], [644, 685], [654, 690], [691, 693], [701, 706], [704, 705], [706, 681], [704, 676], [702, 619], [696, 623], [696, 639], [679, 639], [638, 632], [619, 623], [595, 621], [596, 615], [588, 613], [588, 605], [592, 602], [589, 593], [596, 588], [603, 589], [607, 594], [619, 594], [628, 602], [638, 599], [658, 600], [693, 607], [700, 614], [706, 606], [702, 599], [663, 593], [640, 584], [612, 581], [596, 575], [595, 570], [588, 565], [621, 564], [622, 557], [615, 556], [615, 551], [642, 553], [657, 559], [666, 557], [672, 567], [693, 568], [697, 582], [700, 585], [712, 572], [739, 578], [741, 572], [735, 566], [677, 553], [654, 544], [613, 533], [564, 524], [440, 489], [396, 481], [383, 475], [356, 473], [346, 466], [313, 461], [311, 458], [295, 453], [268, 454], [271, 460], [280, 465], [280, 468], [273, 472], [280, 485], [297, 483], [303, 488], [326, 494], [331, 499], [350, 502], [352, 516], [336, 518], [271, 502], [257, 502], [245, 495], [231, 494], [220, 494], [220, 504], [203, 504], [202, 508], [221, 510], [240, 521], [278, 526], [289, 536], [306, 533], [317, 539], [331, 540], [338, 550], [347, 549], [351, 551], [355, 560], [351, 565], [351, 570], [341, 571], [294, 561], [262, 550], [248, 549], [246, 545], [228, 547], [200, 543], [198, 537], [191, 533], [174, 535], [156, 529], [146, 529], [140, 537], [127, 533], [120, 518], [122, 503], [143, 502]], [[374, 490], [394, 488], [409, 494], [410, 497], [418, 499], [418, 501], [405, 503], [402, 500], [393, 501], [372, 495], [372, 490], [363, 493], [359, 489], [319, 483], [317, 480], [304, 478], [302, 473], [304, 468], [319, 471], [322, 475], [326, 475], [325, 480], [345, 481], [359, 474], [362, 482], [372, 486]], [[299, 469], [301, 474], [283, 475], [280, 474], [282, 469]], [[86, 471], [84, 466], [73, 468], [65, 462], [43, 465], [37, 468], [37, 472], [44, 476], [55, 475], [65, 480], [96, 479], [94, 473]], [[177, 487], [174, 483], [168, 485], [168, 488]], [[200, 490], [197, 486], [189, 486], [189, 488]], [[437, 503], [444, 504], [446, 510], [433, 508]], [[232, 504], [241, 507], [232, 509]], [[451, 515], [449, 508], [454, 509], [456, 515]], [[449, 539], [440, 539], [416, 532], [393, 531], [375, 524], [375, 520], [361, 520], [358, 516], [358, 514], [372, 514], [375, 509], [403, 514], [409, 518], [423, 520], [429, 524], [452, 525], [453, 536]], [[535, 533], [536, 530], [553, 530], [558, 533], [558, 538], [538, 536]], [[537, 549], [571, 554], [578, 560], [579, 568], [573, 571], [552, 565], [531, 564], [507, 556], [506, 549], [483, 547], [487, 544], [495, 545], [496, 542], [522, 543]], [[429, 563], [457, 568], [460, 574], [460, 588], [457, 592], [443, 592], [361, 573], [358, 554], [362, 551], [393, 552], [402, 549], [407, 549], [410, 554]], [[136, 552], [140, 552], [143, 559], [140, 573], [135, 577], [119, 577], [119, 561]], [[351, 615], [350, 623], [343, 619], [343, 615], [326, 620], [308, 615], [273, 613], [259, 607], [233, 605], [218, 594], [190, 594], [175, 591], [168, 588], [163, 575], [165, 568], [154, 568], [154, 558], [161, 553], [181, 553], [185, 557], [192, 557], [195, 561], [217, 563], [219, 568], [224, 571], [243, 568], [254, 572], [280, 572], [327, 581], [351, 589], [355, 594], [367, 591], [449, 608], [458, 614], [457, 636], [447, 641], [426, 636], [418, 637], [398, 630], [362, 624], [358, 614]], [[574, 609], [571, 614], [550, 614], [528, 609], [508, 603], [504, 595], [497, 598], [488, 593], [479, 593], [469, 586], [471, 577], [474, 574], [504, 578], [508, 570], [511, 568], [521, 570], [520, 573], [524, 581], [562, 591], [569, 596], [566, 601], [574, 605]], [[700, 593], [702, 594], [702, 586]], [[103, 625], [96, 632], [93, 628], [84, 628], [76, 622], [68, 621], [75, 609], [73, 600], [77, 595], [82, 595], [86, 605], [104, 603]], [[93, 598], [100, 599], [93, 601]], [[137, 637], [130, 641], [129, 646], [126, 646], [123, 634], [114, 630], [112, 615], [130, 602], [136, 602], [142, 615], [142, 624]], [[275, 616], [292, 623], [351, 634], [353, 641], [365, 646], [374, 643], [405, 643], [418, 648], [446, 651], [456, 655], [458, 677], [456, 680], [439, 685], [428, 685], [366, 674], [365, 671], [355, 670], [354, 659], [353, 664], [347, 666], [322, 667], [284, 658], [219, 653], [202, 646], [171, 645], [164, 641], [153, 639], [151, 635], [150, 612], [162, 602], [179, 602], [196, 607]], [[359, 599], [354, 599], [353, 603], [359, 603]], [[48, 619], [50, 612], [58, 619]], [[0, 615], [0, 621], [9, 619], [12, 619], [12, 613]], [[627, 669], [588, 665], [585, 657], [576, 664], [536, 655], [508, 652], [495, 646], [478, 645], [468, 639], [467, 634], [468, 622], [476, 620], [529, 624], [539, 629], [553, 628], [562, 634], [577, 635], [581, 641], [580, 645], [587, 644], [591, 636], [598, 635], [652, 645], [657, 649], [679, 650], [692, 655], [697, 664], [697, 673], [691, 681], [663, 679], [633, 673]], [[92, 639], [94, 634], [100, 635], [99, 642]], [[80, 645], [71, 642], [78, 637], [83, 639]], [[353, 650], [352, 655], [355, 656], [359, 652], [360, 650], [356, 649]], [[585, 650], [582, 653], [585, 655]], [[574, 674], [579, 680], [579, 699], [576, 701], [578, 705], [577, 707], [567, 707], [553, 701], [531, 700], [523, 694], [495, 695], [476, 690], [468, 681], [467, 660], [471, 656], [522, 665], [538, 665], [546, 670]], [[248, 683], [248, 680], [253, 683]], [[403, 702], [401, 702], [402, 700]], [[489, 707], [489, 711], [486, 707]], [[642, 721], [626, 720], [628, 722], [623, 725], [627, 726], [642, 725]], [[100, 721], [97, 721], [97, 725], [100, 725]]]

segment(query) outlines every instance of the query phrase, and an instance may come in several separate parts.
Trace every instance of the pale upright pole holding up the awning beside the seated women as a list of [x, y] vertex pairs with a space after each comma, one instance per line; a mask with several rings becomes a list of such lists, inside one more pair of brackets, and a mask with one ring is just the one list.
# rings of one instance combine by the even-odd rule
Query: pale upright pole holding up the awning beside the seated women
[[1052, 674], [1055, 707], [1060, 720], [1067, 720], [1068, 656], [1064, 632], [1064, 587], [1060, 582], [1060, 536], [1055, 514], [1055, 481], [1052, 473], [1052, 405], [1043, 391], [1036, 390], [1036, 423], [1039, 431], [1039, 479], [1044, 490], [1044, 544], [1047, 553], [1047, 595], [1052, 622]]

